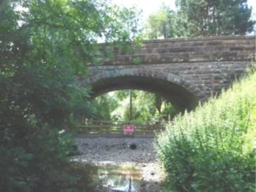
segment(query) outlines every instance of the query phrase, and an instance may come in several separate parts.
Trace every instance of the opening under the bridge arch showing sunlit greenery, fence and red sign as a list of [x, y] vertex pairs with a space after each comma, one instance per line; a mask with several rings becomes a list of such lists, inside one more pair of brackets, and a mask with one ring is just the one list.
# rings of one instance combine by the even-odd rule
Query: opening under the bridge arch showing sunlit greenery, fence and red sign
[[135, 89], [112, 91], [91, 101], [93, 114], [77, 116], [79, 137], [154, 137], [178, 110], [160, 95]]

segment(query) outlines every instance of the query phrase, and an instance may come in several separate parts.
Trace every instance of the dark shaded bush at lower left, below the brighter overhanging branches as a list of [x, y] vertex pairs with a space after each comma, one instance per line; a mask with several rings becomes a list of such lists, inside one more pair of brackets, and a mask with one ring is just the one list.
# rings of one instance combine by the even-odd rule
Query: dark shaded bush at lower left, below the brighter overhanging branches
[[68, 157], [72, 137], [60, 130], [71, 126], [73, 112], [89, 108], [88, 93], [72, 74], [59, 69], [49, 78], [45, 69], [0, 71], [0, 191], [75, 190], [79, 182]]

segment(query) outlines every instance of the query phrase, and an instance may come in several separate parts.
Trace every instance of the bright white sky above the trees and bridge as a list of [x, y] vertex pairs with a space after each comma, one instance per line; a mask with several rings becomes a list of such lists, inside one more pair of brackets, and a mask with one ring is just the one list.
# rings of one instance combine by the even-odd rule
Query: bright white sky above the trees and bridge
[[[162, 3], [175, 9], [175, 0], [112, 0], [112, 2], [119, 6], [126, 7], [136, 5], [139, 9], [142, 9], [143, 21], [145, 21], [151, 13], [156, 12]], [[253, 15], [256, 19], [256, 0], [248, 0], [247, 3], [248, 6], [252, 6]]]

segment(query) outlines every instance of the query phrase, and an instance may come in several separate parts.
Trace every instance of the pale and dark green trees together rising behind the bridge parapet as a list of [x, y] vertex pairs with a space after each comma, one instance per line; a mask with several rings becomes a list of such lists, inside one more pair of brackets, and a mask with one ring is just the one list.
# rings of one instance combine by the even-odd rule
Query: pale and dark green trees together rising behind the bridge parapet
[[161, 6], [149, 15], [147, 39], [246, 35], [255, 21], [247, 0], [176, 0], [176, 10]]

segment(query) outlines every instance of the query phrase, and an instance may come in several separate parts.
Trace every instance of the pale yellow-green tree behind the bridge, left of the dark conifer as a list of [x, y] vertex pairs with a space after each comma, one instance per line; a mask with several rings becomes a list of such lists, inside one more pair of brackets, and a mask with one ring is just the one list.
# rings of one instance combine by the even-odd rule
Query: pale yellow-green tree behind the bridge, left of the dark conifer
[[158, 12], [152, 13], [145, 24], [145, 37], [147, 39], [172, 38], [174, 29], [172, 15], [174, 12], [162, 4]]

